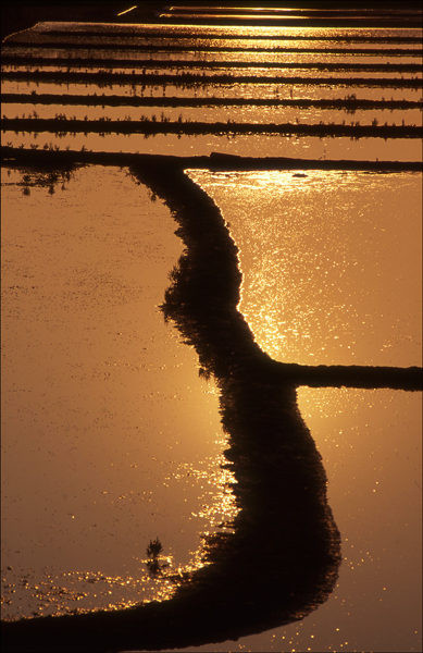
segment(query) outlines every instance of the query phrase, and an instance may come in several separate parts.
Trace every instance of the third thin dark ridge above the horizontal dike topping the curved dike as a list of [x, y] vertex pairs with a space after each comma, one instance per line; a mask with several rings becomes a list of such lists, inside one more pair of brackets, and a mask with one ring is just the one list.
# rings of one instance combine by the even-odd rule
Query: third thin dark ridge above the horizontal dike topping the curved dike
[[[200, 65], [200, 64], [199, 64]], [[420, 88], [423, 86], [421, 77], [301, 77], [295, 75], [208, 75], [201, 73], [111, 73], [100, 71], [97, 73], [66, 72], [66, 71], [3, 71], [2, 79], [27, 79], [35, 82], [80, 83], [95, 82], [99, 86], [102, 83], [115, 84], [124, 82], [128, 84], [161, 85], [176, 84], [177, 86], [189, 84], [306, 84], [308, 86], [386, 86], [394, 88]]]

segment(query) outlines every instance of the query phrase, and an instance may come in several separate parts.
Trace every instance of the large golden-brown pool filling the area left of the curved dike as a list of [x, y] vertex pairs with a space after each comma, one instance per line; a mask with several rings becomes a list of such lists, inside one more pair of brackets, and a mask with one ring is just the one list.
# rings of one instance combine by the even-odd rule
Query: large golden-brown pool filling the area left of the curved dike
[[164, 597], [150, 539], [196, 566], [233, 510], [214, 384], [158, 308], [175, 224], [120, 169], [3, 173], [3, 617]]

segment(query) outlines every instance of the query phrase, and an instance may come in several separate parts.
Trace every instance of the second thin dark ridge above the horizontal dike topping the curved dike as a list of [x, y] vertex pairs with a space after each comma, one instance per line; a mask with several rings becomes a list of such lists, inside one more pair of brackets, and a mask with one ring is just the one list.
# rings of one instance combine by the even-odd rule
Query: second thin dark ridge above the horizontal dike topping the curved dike
[[136, 97], [114, 95], [59, 95], [3, 93], [1, 101], [18, 104], [86, 104], [101, 107], [297, 107], [308, 109], [346, 109], [349, 113], [368, 109], [422, 109], [419, 100], [365, 100], [365, 99], [278, 99], [278, 98], [178, 98]]

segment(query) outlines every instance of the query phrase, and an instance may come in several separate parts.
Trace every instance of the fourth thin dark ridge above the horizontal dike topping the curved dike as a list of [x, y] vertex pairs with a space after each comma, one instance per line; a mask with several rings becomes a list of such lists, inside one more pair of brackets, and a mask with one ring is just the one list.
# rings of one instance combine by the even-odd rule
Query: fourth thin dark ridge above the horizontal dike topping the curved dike
[[[43, 65], [57, 66], [66, 65], [69, 67], [252, 67], [252, 69], [303, 69], [318, 71], [363, 71], [363, 72], [393, 72], [393, 73], [421, 73], [422, 66], [419, 63], [325, 63], [313, 62], [282, 62], [282, 61], [200, 61], [172, 59], [100, 59], [100, 58], [78, 58], [74, 57], [16, 57], [15, 54], [3, 54], [1, 63], [7, 65]], [[12, 71], [13, 72], [13, 71]], [[28, 71], [25, 71], [28, 72]]]

